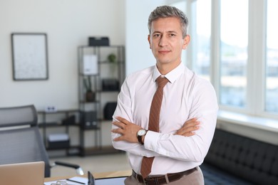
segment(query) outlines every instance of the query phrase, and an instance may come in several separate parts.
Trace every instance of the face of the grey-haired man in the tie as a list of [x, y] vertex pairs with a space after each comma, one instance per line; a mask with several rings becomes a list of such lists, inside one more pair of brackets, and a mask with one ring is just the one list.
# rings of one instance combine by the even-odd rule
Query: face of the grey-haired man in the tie
[[179, 18], [158, 18], [152, 22], [148, 41], [157, 64], [175, 68], [180, 64], [182, 49], [187, 47], [190, 36], [182, 38]]

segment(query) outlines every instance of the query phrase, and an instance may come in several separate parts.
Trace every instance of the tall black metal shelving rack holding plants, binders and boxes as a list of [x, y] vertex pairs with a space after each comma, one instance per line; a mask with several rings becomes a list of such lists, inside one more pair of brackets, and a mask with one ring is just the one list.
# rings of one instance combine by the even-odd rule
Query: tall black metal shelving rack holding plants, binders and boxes
[[[124, 46], [78, 47], [78, 104], [81, 125], [81, 154], [113, 151], [103, 147], [103, 124], [110, 124], [120, 86], [125, 78]], [[93, 144], [86, 144], [93, 134]], [[114, 150], [115, 151], [115, 150]]]

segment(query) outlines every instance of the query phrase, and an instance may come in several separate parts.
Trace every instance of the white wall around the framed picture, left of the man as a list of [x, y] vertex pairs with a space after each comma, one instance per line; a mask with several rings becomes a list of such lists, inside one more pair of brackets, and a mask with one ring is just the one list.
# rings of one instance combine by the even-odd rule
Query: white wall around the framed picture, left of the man
[[[11, 33], [47, 33], [48, 80], [14, 81]], [[0, 0], [0, 107], [78, 108], [77, 47], [88, 36], [125, 44], [124, 0]]]

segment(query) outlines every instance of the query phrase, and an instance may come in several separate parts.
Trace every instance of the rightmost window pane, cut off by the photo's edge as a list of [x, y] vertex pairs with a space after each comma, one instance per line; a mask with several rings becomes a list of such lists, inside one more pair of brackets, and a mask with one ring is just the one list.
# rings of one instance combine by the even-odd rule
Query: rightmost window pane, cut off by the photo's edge
[[278, 1], [267, 1], [265, 111], [278, 113]]

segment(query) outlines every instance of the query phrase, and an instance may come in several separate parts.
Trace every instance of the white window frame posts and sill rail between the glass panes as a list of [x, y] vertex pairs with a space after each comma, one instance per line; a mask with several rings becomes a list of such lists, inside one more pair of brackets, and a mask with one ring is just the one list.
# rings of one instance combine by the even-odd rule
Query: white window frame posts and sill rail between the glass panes
[[[186, 0], [184, 0], [186, 1]], [[187, 16], [190, 26], [194, 21], [191, 3], [197, 0], [187, 0]], [[176, 1], [175, 1], [176, 2]], [[215, 87], [218, 102], [220, 103], [220, 3], [221, 0], [211, 1], [211, 36], [210, 36], [210, 80]], [[220, 110], [236, 112], [244, 115], [278, 119], [278, 113], [266, 112], [264, 109], [265, 90], [266, 90], [266, 43], [267, 43], [267, 0], [249, 0], [248, 13], [248, 48], [247, 48], [247, 99], [246, 107], [232, 107], [220, 105]], [[189, 34], [190, 34], [189, 26]], [[187, 67], [192, 68], [192, 51], [186, 51]], [[188, 62], [190, 61], [190, 62]]]

